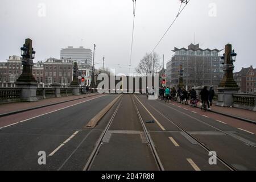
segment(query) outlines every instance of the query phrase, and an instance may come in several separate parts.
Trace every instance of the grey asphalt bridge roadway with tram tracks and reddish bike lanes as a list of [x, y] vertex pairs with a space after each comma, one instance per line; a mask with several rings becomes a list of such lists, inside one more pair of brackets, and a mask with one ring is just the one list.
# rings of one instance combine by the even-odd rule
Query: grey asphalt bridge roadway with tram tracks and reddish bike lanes
[[[0, 170], [256, 170], [256, 126], [197, 108], [123, 94], [86, 127], [117, 97], [1, 117]], [[38, 164], [39, 151], [46, 165]], [[209, 164], [209, 151], [217, 164]]]

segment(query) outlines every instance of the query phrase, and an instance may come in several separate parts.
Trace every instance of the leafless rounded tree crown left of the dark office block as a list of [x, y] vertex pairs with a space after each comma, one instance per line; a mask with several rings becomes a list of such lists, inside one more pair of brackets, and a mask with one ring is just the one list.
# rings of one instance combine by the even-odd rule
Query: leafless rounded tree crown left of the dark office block
[[140, 61], [135, 71], [137, 73], [157, 73], [161, 69], [160, 64], [160, 56], [153, 52], [153, 53], [146, 53], [143, 59]]

